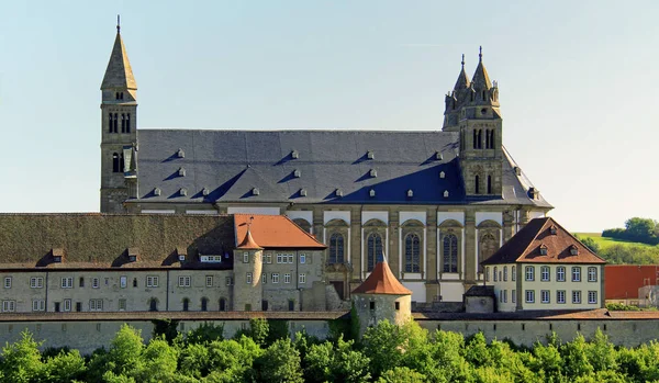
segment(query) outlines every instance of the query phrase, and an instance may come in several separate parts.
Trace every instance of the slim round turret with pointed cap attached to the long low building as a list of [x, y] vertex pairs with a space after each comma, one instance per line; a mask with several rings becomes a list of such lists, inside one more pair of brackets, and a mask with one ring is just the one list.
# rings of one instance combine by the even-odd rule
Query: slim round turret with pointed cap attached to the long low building
[[245, 238], [234, 250], [234, 307], [236, 312], [258, 311], [264, 300], [261, 273], [264, 251], [247, 229]]

